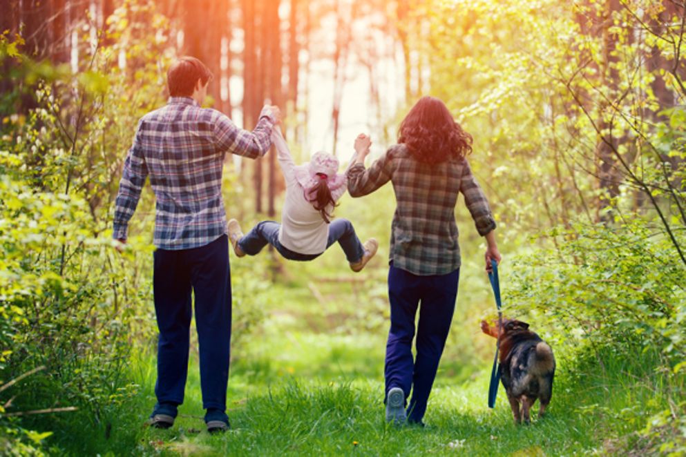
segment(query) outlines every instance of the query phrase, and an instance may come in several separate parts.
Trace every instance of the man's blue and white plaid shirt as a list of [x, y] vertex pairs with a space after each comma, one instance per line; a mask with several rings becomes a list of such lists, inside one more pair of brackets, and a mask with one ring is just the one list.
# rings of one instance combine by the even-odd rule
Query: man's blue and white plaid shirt
[[273, 126], [267, 108], [255, 130], [248, 132], [187, 97], [171, 97], [166, 106], [144, 115], [124, 162], [113, 237], [126, 239], [128, 220], [148, 175], [155, 193], [155, 246], [191, 249], [227, 233], [222, 198], [226, 153], [251, 159], [265, 155]]

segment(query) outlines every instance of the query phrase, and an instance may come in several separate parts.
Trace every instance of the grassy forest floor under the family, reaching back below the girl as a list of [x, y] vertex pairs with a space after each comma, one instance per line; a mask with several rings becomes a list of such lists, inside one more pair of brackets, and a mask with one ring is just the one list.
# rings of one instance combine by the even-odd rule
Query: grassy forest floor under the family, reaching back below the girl
[[[383, 221], [390, 220], [392, 208], [362, 215], [353, 209], [356, 217], [381, 221], [376, 227], [362, 226], [363, 240], [388, 231]], [[341, 212], [345, 216], [345, 206]], [[470, 232], [473, 228], [467, 227], [463, 233]], [[495, 343], [480, 333], [479, 320], [495, 304], [481, 263], [483, 246], [474, 238], [464, 241], [455, 318], [424, 418], [426, 428], [384, 421], [388, 239], [380, 239], [378, 258], [357, 275], [347, 270], [335, 246], [314, 262], [276, 266], [267, 253], [241, 260], [231, 255], [234, 343], [227, 433], [208, 434], [202, 419], [193, 330], [186, 396], [171, 429], [145, 425], [155, 404], [151, 342], [147, 349], [134, 349], [131, 378], [139, 387], [109, 416], [114, 419], [95, 430], [75, 424], [73, 430], [55, 433], [50, 442], [62, 453], [79, 456], [569, 456], [626, 454], [626, 449], [642, 455], [641, 449], [654, 443], [644, 443], [636, 431], [664, 399], [656, 398], [654, 385], [637, 380], [659, 379], [641, 373], [629, 379], [625, 367], [613, 366], [611, 359], [602, 369], [591, 360], [579, 370], [578, 361], [565, 355], [573, 351], [553, 348], [558, 358], [553, 400], [546, 418], [533, 418], [531, 425], [514, 424], [502, 387], [495, 409], [488, 408]], [[502, 273], [506, 281], [507, 269]], [[250, 324], [236, 318], [248, 302], [250, 312], [257, 312], [249, 331], [244, 327]], [[255, 303], [260, 304], [257, 310]], [[548, 331], [535, 330], [544, 338]], [[646, 370], [651, 370], [649, 364]]]

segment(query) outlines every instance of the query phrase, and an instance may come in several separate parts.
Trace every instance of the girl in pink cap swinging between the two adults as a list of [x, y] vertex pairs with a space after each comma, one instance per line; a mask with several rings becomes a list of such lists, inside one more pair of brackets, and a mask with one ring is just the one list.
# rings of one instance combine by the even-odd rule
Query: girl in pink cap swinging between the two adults
[[[370, 238], [363, 245], [349, 220], [332, 221], [336, 202], [347, 188], [345, 175], [337, 173], [339, 160], [331, 154], [316, 153], [309, 164], [296, 166], [278, 127], [271, 139], [286, 180], [286, 200], [281, 224], [258, 223], [243, 235], [235, 219], [229, 221], [229, 240], [238, 257], [256, 255], [267, 244], [288, 260], [307, 261], [319, 257], [335, 242], [341, 244], [352, 271], [361, 271], [377, 253], [379, 243]], [[355, 140], [356, 153], [368, 150], [372, 142], [366, 135]]]

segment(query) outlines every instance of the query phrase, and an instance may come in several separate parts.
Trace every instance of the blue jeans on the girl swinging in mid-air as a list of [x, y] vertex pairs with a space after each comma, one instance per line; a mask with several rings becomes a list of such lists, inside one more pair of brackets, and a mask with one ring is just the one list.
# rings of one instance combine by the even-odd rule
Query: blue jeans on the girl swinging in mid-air
[[[251, 231], [247, 233], [238, 242], [238, 246], [247, 255], [256, 255], [262, 251], [267, 244], [274, 246], [274, 249], [283, 255], [288, 260], [298, 260], [305, 262], [307, 260], [314, 260], [323, 253], [318, 254], [301, 254], [282, 246], [278, 241], [278, 230], [281, 224], [274, 221], [262, 221], [254, 226]], [[329, 238], [326, 243], [326, 249], [335, 242], [341, 244], [343, 252], [348, 262], [356, 263], [362, 260], [365, 253], [364, 246], [360, 239], [355, 234], [355, 229], [352, 222], [347, 219], [336, 219], [329, 224]]]

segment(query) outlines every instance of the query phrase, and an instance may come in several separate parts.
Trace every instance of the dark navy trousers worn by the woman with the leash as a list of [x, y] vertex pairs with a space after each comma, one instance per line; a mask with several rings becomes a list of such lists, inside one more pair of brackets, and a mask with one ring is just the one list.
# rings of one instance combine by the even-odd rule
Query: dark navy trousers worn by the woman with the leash
[[[455, 311], [459, 269], [446, 275], [417, 276], [395, 268], [388, 272], [390, 331], [386, 344], [385, 391], [400, 387], [412, 399], [408, 420], [421, 422], [446, 345]], [[421, 306], [419, 303], [421, 302]], [[417, 357], [412, 360], [415, 315], [419, 307]]]

